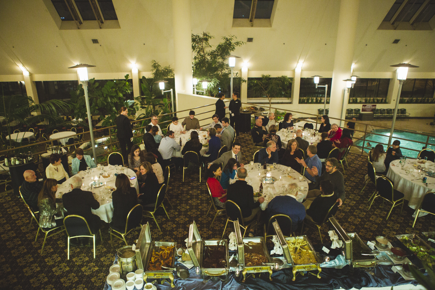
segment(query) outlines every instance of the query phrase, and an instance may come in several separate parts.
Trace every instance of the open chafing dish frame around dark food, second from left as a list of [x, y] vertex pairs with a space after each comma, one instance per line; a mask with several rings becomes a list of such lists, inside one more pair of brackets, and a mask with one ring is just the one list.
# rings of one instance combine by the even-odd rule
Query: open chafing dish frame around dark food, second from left
[[[222, 245], [225, 247], [225, 266], [219, 268], [204, 267], [204, 251], [206, 246]], [[205, 276], [221, 276], [228, 275], [230, 272], [229, 256], [228, 256], [228, 241], [227, 240], [202, 240], [199, 234], [196, 223], [191, 223], [189, 227], [189, 238], [187, 240], [187, 250], [195, 267], [200, 267], [202, 275]]]

